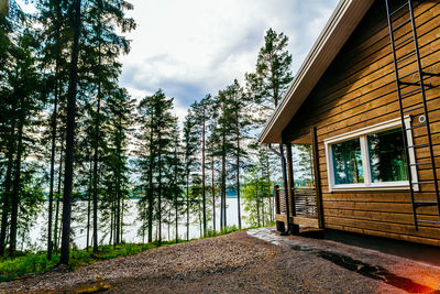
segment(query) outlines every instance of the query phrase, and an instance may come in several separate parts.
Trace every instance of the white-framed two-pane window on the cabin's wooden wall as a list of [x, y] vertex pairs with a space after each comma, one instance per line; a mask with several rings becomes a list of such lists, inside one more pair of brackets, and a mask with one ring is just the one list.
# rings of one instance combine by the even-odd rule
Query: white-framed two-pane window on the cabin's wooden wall
[[[405, 122], [409, 127], [409, 117]], [[407, 135], [413, 144], [410, 131]], [[400, 119], [330, 138], [324, 143], [330, 190], [409, 188]], [[410, 150], [410, 162], [414, 159]], [[411, 168], [411, 176], [417, 182], [417, 170]]]

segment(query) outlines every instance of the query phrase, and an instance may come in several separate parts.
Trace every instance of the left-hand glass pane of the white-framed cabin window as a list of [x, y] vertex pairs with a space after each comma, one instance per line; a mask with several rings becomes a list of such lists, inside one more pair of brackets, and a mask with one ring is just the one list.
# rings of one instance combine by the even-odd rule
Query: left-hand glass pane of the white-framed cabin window
[[364, 183], [361, 142], [354, 140], [331, 145], [333, 154], [334, 184]]

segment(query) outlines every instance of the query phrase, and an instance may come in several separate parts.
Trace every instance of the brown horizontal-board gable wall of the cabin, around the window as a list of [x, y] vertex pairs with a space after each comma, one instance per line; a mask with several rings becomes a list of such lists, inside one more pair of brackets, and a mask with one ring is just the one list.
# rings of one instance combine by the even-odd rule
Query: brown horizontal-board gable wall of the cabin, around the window
[[[440, 73], [440, 1], [414, 3], [422, 68]], [[399, 18], [404, 21], [409, 15], [406, 12]], [[406, 28], [396, 32], [396, 42], [410, 36], [410, 24]], [[411, 51], [410, 42], [398, 54]], [[405, 65], [400, 64], [404, 68]], [[400, 70], [402, 75], [408, 73], [409, 69]], [[416, 75], [411, 78], [417, 80]], [[428, 77], [427, 81], [435, 86], [426, 94], [440, 175], [440, 77]], [[409, 192], [329, 190], [323, 140], [396, 118], [400, 113], [386, 8], [384, 1], [377, 0], [283, 133], [294, 141], [309, 133], [311, 127], [317, 128], [326, 228], [440, 246], [440, 225], [419, 224], [419, 230], [415, 230]], [[427, 137], [417, 130], [413, 137], [415, 143], [427, 142]], [[426, 153], [424, 149], [416, 150], [416, 159], [426, 157]], [[419, 171], [418, 177], [424, 179], [427, 175]], [[439, 220], [436, 207], [422, 208], [420, 213]]]

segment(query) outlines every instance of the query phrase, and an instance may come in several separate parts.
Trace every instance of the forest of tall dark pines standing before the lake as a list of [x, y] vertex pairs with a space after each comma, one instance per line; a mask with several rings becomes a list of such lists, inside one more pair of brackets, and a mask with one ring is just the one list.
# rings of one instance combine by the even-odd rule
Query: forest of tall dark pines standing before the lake
[[[176, 242], [189, 239], [190, 215], [204, 236], [222, 230], [228, 190], [237, 192], [239, 228], [244, 210], [252, 226], [274, 220], [280, 162], [257, 135], [293, 80], [284, 33], [268, 29], [254, 70], [194, 97], [179, 121], [166, 89], [133, 97], [120, 86], [119, 57], [130, 54], [125, 34], [136, 29], [127, 17], [130, 2], [34, 0], [32, 14], [20, 1], [6, 3], [0, 257], [15, 257], [42, 211], [47, 259], [59, 252], [68, 263], [79, 230], [92, 252], [103, 242], [122, 243], [130, 199], [144, 242], [161, 243], [166, 226], [174, 226]], [[307, 154], [299, 149], [296, 160], [307, 164]]]

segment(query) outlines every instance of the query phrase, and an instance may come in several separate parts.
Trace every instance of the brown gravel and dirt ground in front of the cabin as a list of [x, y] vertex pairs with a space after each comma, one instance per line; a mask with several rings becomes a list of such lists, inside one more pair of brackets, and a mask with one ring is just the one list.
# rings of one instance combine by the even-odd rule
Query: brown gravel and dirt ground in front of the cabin
[[1, 293], [440, 293], [440, 268], [268, 228], [150, 250]]

